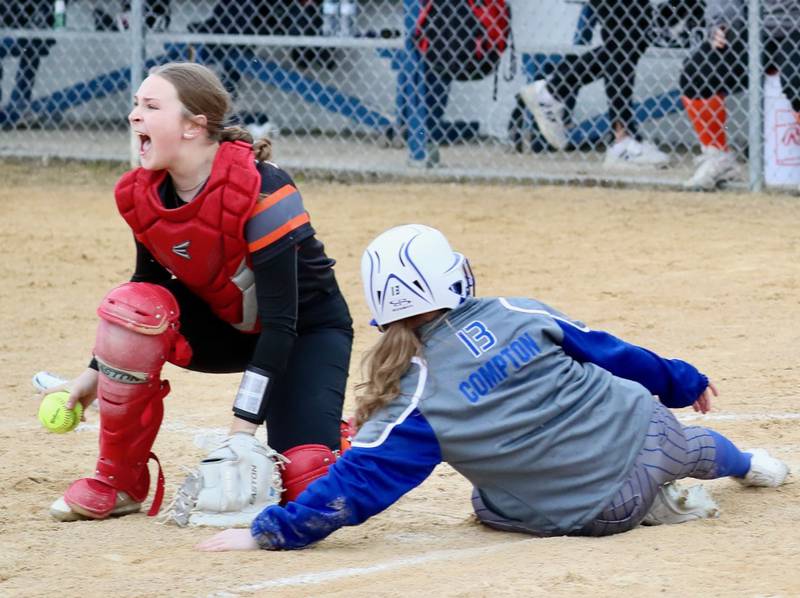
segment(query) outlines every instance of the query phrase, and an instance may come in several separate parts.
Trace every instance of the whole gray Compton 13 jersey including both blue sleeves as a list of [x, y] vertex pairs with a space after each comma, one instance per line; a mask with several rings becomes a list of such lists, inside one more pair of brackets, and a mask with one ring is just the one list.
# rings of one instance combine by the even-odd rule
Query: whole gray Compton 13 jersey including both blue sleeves
[[[442, 461], [505, 523], [541, 535], [582, 533], [624, 492], [681, 477], [683, 461], [707, 458], [687, 458], [685, 440], [683, 453], [671, 445], [683, 430], [670, 436], [653, 426], [675, 422], [653, 395], [685, 407], [708, 386], [685, 361], [590, 330], [532, 299], [469, 299], [420, 333], [423, 354], [399, 395], [370, 415], [352, 447], [297, 498], [298, 508], [268, 507], [253, 521], [262, 546], [300, 548], [358, 525]], [[664, 461], [642, 458], [649, 451], [678, 461], [667, 471]], [[641, 484], [631, 485], [640, 466]]]

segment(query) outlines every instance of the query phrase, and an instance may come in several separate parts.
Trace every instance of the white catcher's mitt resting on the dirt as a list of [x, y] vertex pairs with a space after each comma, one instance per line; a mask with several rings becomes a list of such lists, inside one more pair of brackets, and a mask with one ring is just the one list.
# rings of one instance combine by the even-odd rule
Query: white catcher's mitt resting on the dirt
[[247, 527], [280, 500], [283, 460], [254, 436], [237, 432], [189, 472], [162, 520], [180, 527]]

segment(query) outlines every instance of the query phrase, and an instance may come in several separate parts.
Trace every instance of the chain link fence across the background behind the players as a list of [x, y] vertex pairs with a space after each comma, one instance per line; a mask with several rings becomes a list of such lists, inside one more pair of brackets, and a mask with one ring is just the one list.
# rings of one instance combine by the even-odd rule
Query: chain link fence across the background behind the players
[[5, 0], [0, 155], [135, 160], [153, 65], [337, 175], [800, 185], [800, 0]]

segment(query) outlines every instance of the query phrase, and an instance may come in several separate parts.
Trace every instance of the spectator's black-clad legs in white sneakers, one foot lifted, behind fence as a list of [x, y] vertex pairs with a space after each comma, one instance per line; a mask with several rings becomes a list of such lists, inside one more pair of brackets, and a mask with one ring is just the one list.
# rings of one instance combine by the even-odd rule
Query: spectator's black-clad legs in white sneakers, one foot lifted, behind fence
[[567, 147], [566, 104], [578, 91], [602, 78], [605, 82], [614, 142], [606, 152], [605, 165], [665, 166], [669, 157], [652, 143], [636, 138], [632, 101], [639, 59], [663, 27], [691, 12], [689, 0], [670, 0], [659, 7], [658, 36], [650, 0], [589, 0], [600, 22], [602, 45], [582, 54], [566, 56], [548, 79], [534, 81], [520, 91], [533, 113], [542, 136], [557, 149]]

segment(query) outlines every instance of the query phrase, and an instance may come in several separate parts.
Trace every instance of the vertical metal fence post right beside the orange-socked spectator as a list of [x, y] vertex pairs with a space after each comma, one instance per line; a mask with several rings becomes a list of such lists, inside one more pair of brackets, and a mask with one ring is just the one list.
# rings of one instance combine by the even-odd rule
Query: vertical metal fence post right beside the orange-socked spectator
[[747, 8], [748, 39], [748, 186], [758, 192], [764, 187], [764, 73], [761, 64], [761, 2], [749, 0]]

